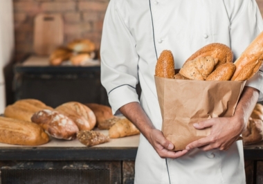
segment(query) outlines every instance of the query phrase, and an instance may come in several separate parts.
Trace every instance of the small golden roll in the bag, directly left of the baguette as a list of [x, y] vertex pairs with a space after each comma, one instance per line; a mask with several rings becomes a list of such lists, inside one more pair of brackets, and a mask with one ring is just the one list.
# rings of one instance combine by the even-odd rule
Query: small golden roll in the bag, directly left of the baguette
[[228, 62], [219, 65], [215, 71], [213, 71], [206, 80], [230, 80], [235, 72], [235, 64]]

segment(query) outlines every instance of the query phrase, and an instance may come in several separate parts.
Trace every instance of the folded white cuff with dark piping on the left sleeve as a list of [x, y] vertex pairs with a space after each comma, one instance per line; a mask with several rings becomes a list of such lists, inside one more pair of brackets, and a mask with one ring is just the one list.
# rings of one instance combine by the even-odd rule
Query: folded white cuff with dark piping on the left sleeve
[[119, 113], [118, 109], [123, 107], [123, 105], [129, 104], [130, 102], [139, 102], [136, 89], [129, 85], [116, 87], [109, 92], [108, 96], [109, 104], [111, 105], [111, 110], [114, 115]]

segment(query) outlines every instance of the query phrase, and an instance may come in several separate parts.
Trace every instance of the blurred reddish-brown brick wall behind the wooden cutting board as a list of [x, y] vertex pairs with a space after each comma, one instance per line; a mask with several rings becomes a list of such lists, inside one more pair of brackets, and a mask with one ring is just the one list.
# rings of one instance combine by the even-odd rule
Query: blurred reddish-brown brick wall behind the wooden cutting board
[[[4, 0], [6, 1], [6, 0]], [[33, 22], [41, 12], [60, 13], [64, 19], [64, 44], [88, 38], [100, 47], [102, 23], [109, 0], [13, 0], [15, 60], [33, 53]]]

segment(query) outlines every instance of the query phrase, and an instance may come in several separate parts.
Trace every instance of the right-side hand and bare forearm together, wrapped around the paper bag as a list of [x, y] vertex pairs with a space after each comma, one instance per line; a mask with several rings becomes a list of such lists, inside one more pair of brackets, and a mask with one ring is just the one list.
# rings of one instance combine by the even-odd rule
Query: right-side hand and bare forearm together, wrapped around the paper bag
[[237, 103], [234, 116], [231, 118], [212, 118], [210, 120], [198, 122], [194, 125], [196, 129], [211, 127], [211, 134], [206, 138], [191, 142], [186, 146], [186, 149], [190, 150], [196, 147], [203, 151], [211, 149], [229, 149], [246, 128], [248, 118], [251, 116], [258, 96], [259, 91], [257, 89], [245, 86], [240, 100]]

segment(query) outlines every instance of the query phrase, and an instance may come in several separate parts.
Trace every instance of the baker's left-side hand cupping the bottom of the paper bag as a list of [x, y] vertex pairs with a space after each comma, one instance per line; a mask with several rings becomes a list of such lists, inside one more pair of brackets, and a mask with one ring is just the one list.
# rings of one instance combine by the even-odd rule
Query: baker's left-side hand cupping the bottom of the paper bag
[[174, 149], [174, 145], [165, 139], [163, 133], [158, 129], [152, 129], [149, 134], [149, 143], [161, 158], [179, 158], [188, 152], [186, 149], [183, 151], [172, 151], [171, 149]]

